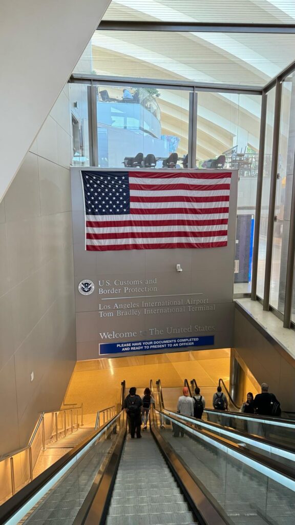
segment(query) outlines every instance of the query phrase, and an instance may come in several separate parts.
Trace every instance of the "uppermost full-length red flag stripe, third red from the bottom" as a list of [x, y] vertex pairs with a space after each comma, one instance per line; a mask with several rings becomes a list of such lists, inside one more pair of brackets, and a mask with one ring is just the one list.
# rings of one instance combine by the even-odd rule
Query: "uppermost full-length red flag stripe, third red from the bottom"
[[[228, 219], [170, 219], [161, 220], [161, 226], [214, 226], [216, 224], [227, 224]], [[97, 220], [87, 220], [87, 228], [112, 228], [120, 226], [158, 226], [157, 220], [106, 220], [99, 222]]]

